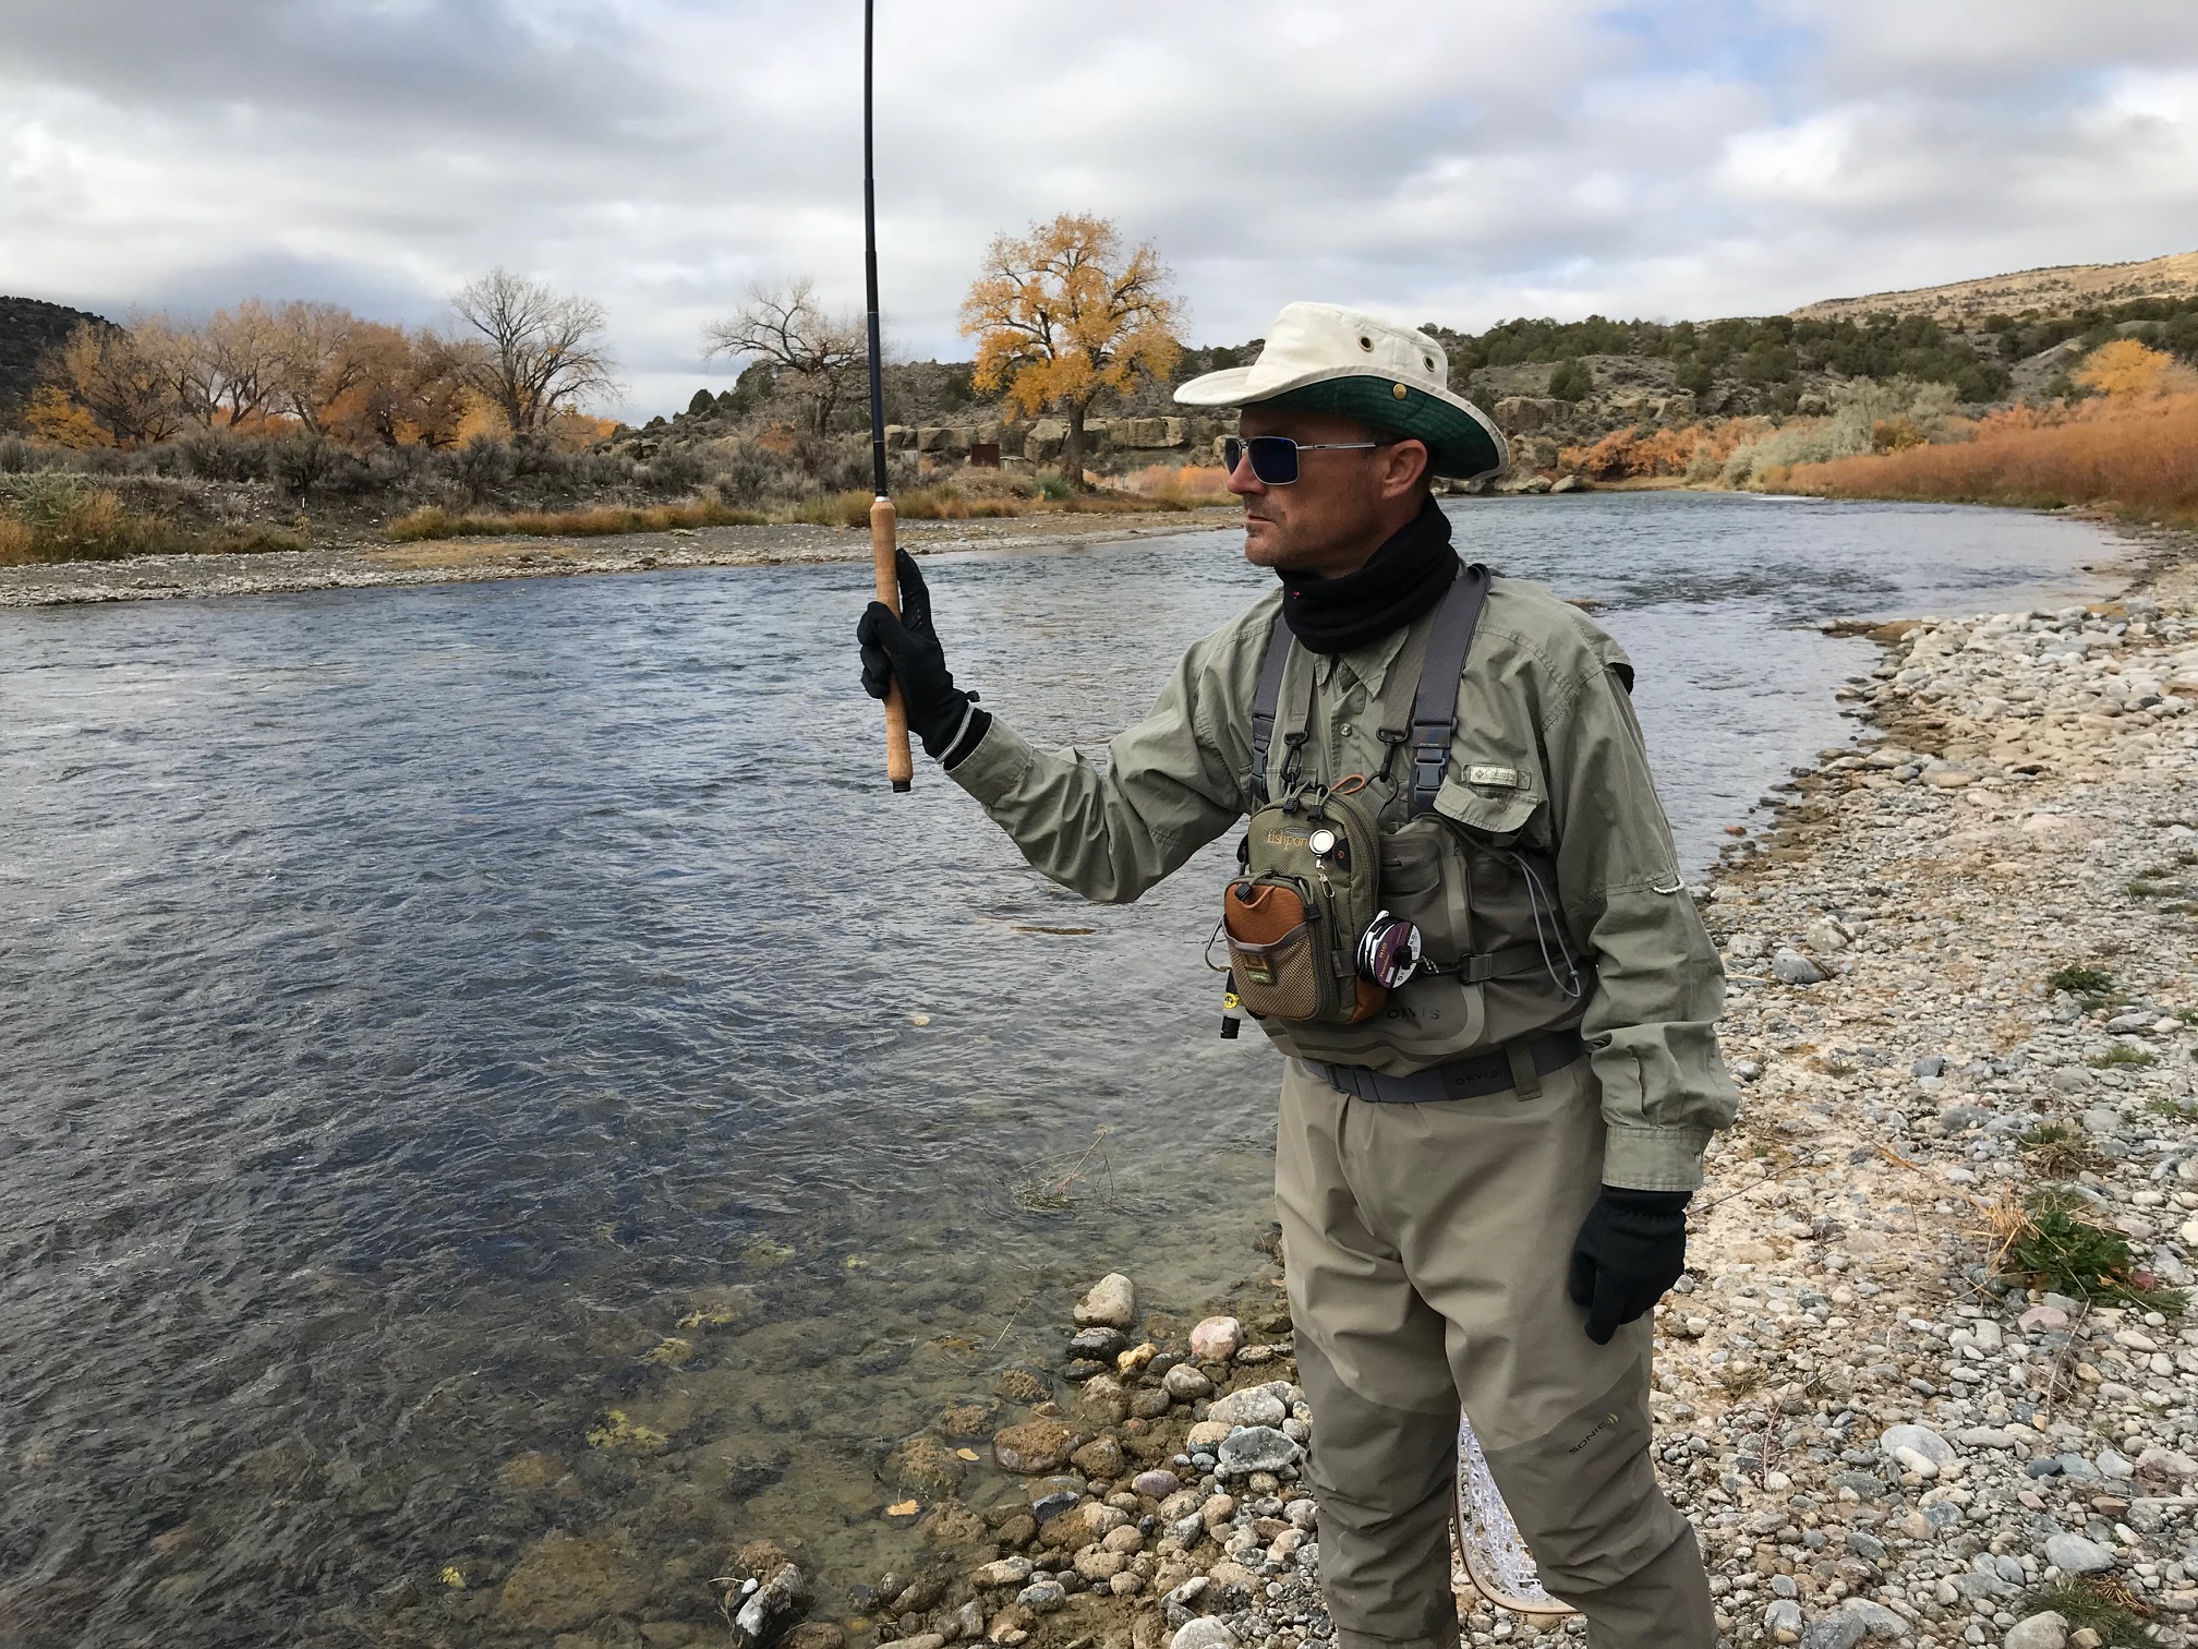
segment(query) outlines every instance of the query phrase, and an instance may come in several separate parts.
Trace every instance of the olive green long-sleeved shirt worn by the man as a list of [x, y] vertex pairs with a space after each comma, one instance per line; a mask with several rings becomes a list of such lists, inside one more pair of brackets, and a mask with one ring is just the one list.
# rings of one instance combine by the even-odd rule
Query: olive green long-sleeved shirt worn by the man
[[[1106, 904], [1136, 899], [1251, 811], [1251, 708], [1279, 602], [1277, 589], [1194, 644], [1103, 770], [1075, 750], [1035, 750], [996, 717], [950, 776], [1062, 886]], [[1376, 774], [1378, 728], [1409, 721], [1431, 627], [1427, 613], [1332, 657], [1292, 649], [1273, 772], [1310, 695], [1306, 776]], [[1565, 919], [1596, 961], [1580, 1031], [1609, 1124], [1602, 1178], [1690, 1192], [1710, 1132], [1739, 1106], [1717, 1051], [1725, 974], [1677, 868], [1631, 684], [1624, 651], [1594, 620], [1541, 585], [1497, 578], [1435, 809], [1550, 853]], [[1407, 765], [1396, 761], [1400, 778]], [[1402, 789], [1385, 829], [1405, 816]]]

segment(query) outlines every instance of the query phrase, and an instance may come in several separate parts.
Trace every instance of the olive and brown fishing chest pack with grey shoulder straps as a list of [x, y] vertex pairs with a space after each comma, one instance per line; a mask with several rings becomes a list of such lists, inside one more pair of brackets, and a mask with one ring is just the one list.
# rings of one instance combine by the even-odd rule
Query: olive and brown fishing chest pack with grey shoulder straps
[[[1435, 607], [1409, 719], [1378, 730], [1374, 776], [1306, 776], [1308, 693], [1270, 783], [1295, 646], [1275, 618], [1253, 695], [1253, 814], [1218, 937], [1233, 1003], [1288, 1053], [1422, 1069], [1514, 1025], [1578, 1016], [1580, 967], [1556, 912], [1554, 866], [1512, 840], [1475, 840], [1435, 807], [1488, 583], [1486, 567], [1462, 567]], [[1405, 818], [1383, 831], [1385, 811]]]

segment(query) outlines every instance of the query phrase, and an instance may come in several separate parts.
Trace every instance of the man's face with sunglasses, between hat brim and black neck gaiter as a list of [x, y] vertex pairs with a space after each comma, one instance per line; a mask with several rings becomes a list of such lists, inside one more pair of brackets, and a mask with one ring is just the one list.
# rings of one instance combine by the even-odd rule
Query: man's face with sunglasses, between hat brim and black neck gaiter
[[[1244, 435], [1288, 435], [1299, 446], [1383, 440], [1380, 431], [1350, 418], [1257, 405], [1244, 407], [1237, 429]], [[1229, 490], [1244, 499], [1244, 558], [1255, 567], [1319, 578], [1356, 572], [1418, 510], [1424, 466], [1420, 442], [1299, 453], [1297, 479], [1268, 486], [1244, 457], [1229, 475]]]

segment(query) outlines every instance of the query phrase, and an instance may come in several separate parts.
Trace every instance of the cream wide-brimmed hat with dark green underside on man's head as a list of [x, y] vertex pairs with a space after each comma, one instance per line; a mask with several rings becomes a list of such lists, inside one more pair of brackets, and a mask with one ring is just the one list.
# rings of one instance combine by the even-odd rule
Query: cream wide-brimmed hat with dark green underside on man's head
[[1341, 303], [1286, 303], [1257, 361], [1191, 378], [1176, 400], [1354, 418], [1427, 442], [1429, 471], [1464, 482], [1510, 464], [1503, 431], [1451, 389], [1440, 343]]

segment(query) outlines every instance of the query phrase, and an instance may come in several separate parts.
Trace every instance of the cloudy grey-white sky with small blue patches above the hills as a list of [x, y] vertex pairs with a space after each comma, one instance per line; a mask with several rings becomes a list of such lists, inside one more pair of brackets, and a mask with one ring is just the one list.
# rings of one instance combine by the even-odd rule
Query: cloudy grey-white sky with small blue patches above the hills
[[[1710, 317], [2198, 248], [2191, 0], [877, 0], [895, 343], [985, 242], [1150, 237], [1189, 339], [1292, 297]], [[7, 0], [0, 292], [435, 321], [604, 301], [646, 416], [754, 279], [862, 301], [859, 0]]]

